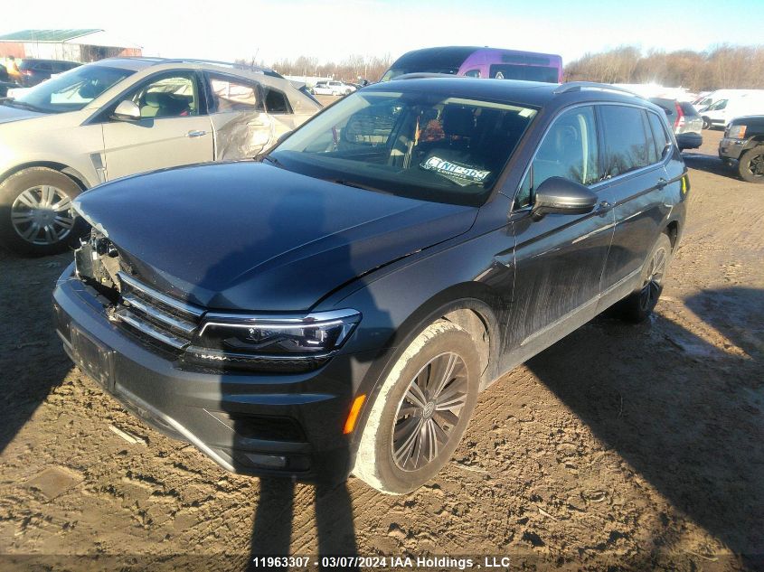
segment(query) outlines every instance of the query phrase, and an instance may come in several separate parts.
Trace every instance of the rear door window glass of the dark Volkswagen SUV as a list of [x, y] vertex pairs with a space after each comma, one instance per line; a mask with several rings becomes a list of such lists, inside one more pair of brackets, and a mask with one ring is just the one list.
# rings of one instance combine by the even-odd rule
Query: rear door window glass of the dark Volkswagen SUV
[[653, 143], [652, 136], [646, 134], [645, 111], [618, 105], [599, 109], [605, 136], [605, 175], [616, 177], [650, 164], [649, 145]]

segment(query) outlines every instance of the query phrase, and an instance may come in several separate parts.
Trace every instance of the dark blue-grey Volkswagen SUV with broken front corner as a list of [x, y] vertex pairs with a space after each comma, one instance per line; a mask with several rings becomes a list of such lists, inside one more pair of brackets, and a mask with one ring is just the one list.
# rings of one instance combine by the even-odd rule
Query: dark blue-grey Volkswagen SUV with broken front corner
[[663, 109], [633, 94], [403, 78], [259, 161], [82, 193], [56, 327], [223, 467], [408, 492], [480, 390], [608, 307], [646, 319], [688, 190]]

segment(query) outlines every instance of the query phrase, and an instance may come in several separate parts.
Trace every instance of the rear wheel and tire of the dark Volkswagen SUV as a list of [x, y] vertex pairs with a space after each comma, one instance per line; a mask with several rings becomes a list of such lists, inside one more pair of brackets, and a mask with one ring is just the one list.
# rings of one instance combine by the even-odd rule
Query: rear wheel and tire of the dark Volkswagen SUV
[[671, 240], [665, 234], [661, 234], [645, 261], [642, 286], [616, 305], [618, 317], [632, 324], [639, 324], [653, 314], [663, 292], [665, 273], [671, 256]]

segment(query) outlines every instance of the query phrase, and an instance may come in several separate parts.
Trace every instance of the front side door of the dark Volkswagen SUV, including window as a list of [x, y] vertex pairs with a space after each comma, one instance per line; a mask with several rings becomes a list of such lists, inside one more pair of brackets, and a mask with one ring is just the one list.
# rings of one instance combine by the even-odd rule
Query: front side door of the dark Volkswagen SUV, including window
[[587, 186], [599, 181], [596, 124], [592, 106], [571, 108], [557, 117], [515, 197], [516, 278], [507, 339], [509, 347], [519, 348], [520, 359], [595, 315], [599, 278], [613, 235], [612, 209], [533, 220], [531, 208], [534, 189], [550, 177]]

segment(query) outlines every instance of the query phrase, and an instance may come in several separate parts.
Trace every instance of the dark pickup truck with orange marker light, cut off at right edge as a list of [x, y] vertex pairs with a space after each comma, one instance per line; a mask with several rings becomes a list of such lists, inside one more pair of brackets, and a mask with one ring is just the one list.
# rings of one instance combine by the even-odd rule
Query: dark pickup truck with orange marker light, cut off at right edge
[[743, 181], [764, 183], [764, 115], [736, 117], [719, 142], [719, 157]]

